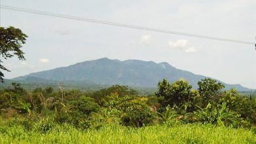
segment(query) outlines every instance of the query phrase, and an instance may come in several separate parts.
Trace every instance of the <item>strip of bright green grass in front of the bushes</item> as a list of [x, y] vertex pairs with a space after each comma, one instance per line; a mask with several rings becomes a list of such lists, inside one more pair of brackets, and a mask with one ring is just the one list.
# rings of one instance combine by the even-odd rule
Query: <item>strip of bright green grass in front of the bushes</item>
[[256, 134], [202, 124], [164, 124], [142, 128], [106, 125], [77, 130], [68, 125], [54, 125], [41, 132], [36, 126], [1, 125], [0, 143], [256, 143]]

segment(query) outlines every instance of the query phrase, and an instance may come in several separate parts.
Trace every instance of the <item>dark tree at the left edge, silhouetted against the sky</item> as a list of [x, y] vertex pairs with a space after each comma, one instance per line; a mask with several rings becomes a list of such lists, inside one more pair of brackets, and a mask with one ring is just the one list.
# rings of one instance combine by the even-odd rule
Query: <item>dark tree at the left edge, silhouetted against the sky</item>
[[25, 44], [26, 34], [22, 33], [20, 29], [15, 27], [0, 27], [0, 81], [3, 82], [3, 71], [10, 71], [4, 67], [1, 63], [1, 58], [7, 60], [13, 56], [18, 56], [19, 60], [26, 60], [24, 58], [24, 52], [20, 50], [22, 44]]

